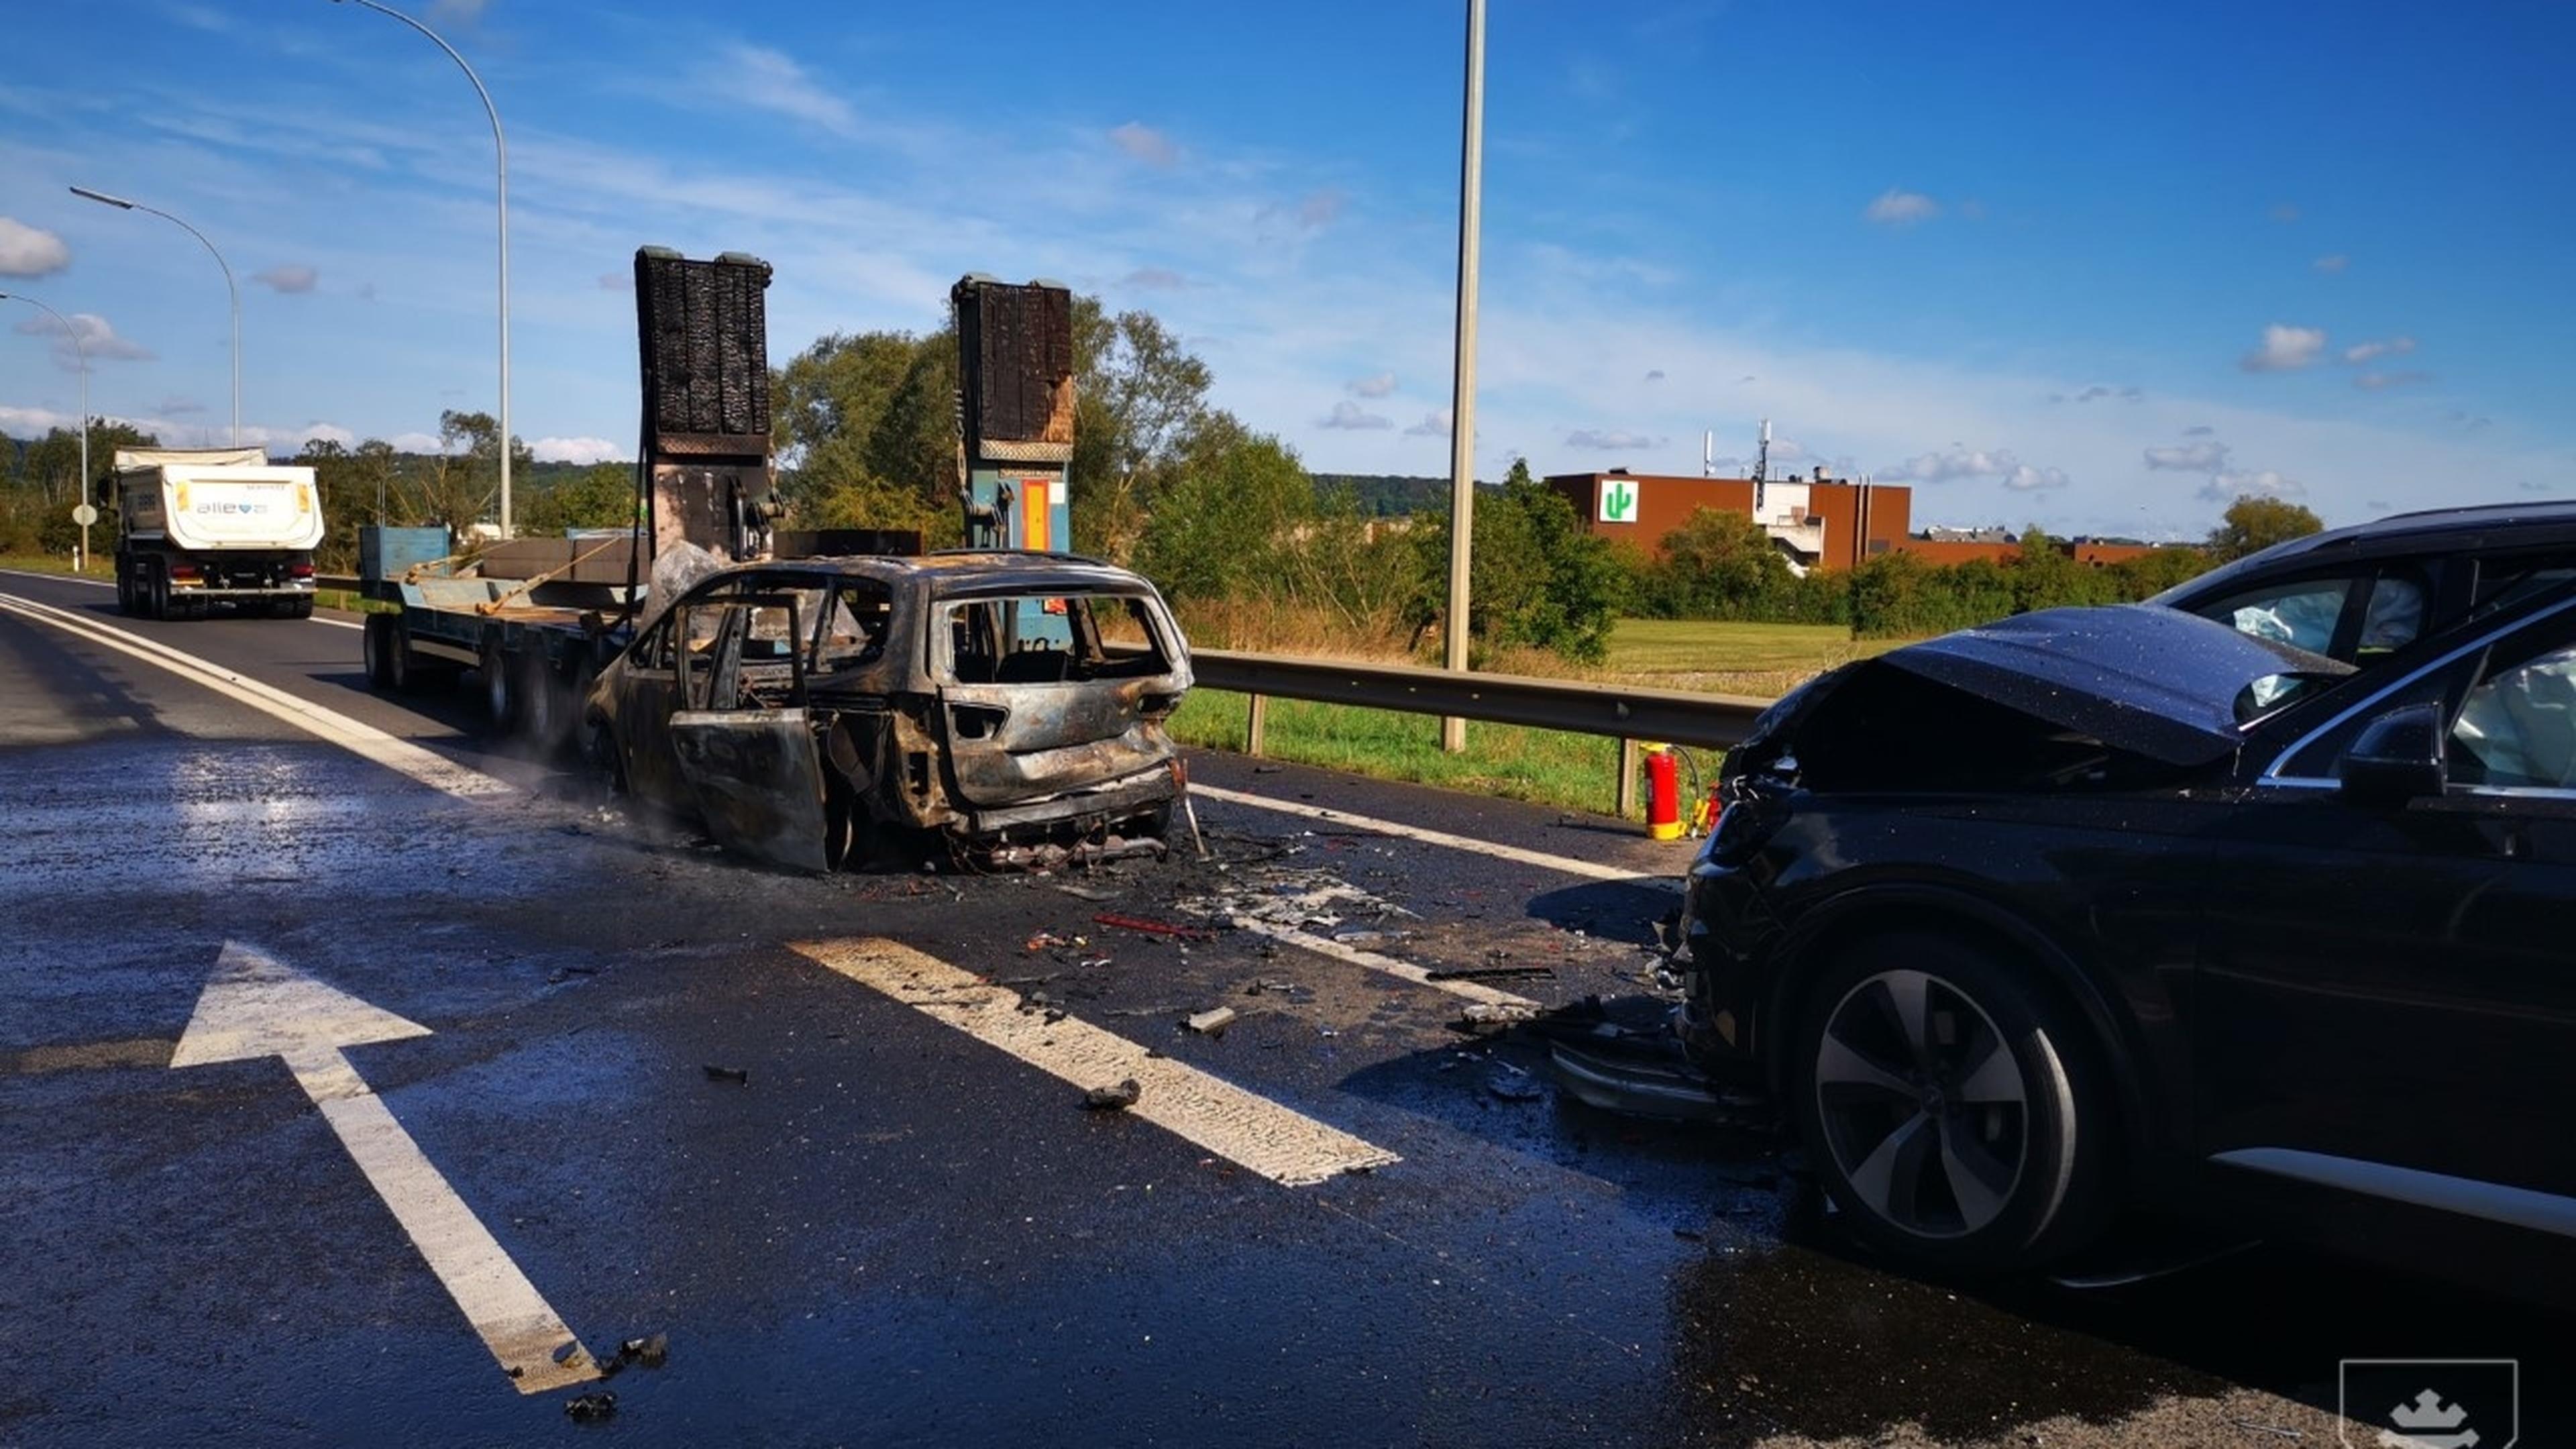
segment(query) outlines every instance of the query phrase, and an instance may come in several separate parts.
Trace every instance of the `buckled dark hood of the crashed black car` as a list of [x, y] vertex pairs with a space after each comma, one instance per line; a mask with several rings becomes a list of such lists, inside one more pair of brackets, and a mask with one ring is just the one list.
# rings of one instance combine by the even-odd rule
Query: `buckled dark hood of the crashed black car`
[[2205, 766], [2236, 750], [2244, 740], [2236, 701], [2249, 683], [2352, 673], [2324, 655], [2146, 603], [2014, 614], [1860, 668], [1896, 668], [2169, 766]]

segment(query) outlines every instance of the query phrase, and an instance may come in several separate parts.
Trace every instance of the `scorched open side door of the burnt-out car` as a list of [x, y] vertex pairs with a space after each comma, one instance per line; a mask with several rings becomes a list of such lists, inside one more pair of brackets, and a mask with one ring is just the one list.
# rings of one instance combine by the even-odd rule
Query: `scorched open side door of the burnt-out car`
[[683, 709], [670, 748], [708, 835], [799, 871], [829, 871], [822, 755], [804, 709]]

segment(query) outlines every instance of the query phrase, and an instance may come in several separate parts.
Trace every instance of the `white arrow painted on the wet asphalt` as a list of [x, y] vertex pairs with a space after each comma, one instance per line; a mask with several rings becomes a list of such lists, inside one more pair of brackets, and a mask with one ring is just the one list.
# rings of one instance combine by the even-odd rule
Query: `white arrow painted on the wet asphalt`
[[412, 1245], [464, 1310], [518, 1392], [600, 1377], [582, 1341], [502, 1253], [474, 1209], [430, 1165], [412, 1134], [340, 1055], [363, 1042], [428, 1036], [430, 1029], [317, 982], [250, 946], [227, 941], [196, 998], [196, 1016], [170, 1052], [173, 1067], [283, 1057], [322, 1122], [340, 1134], [368, 1186], [394, 1209]]

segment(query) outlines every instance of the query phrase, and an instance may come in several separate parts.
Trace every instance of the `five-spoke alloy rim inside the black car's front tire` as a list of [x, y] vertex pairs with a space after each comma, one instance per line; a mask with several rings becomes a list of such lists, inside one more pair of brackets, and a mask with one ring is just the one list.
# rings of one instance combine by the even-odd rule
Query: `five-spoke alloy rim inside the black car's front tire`
[[1816, 1116], [1862, 1207], [1919, 1238], [1991, 1225], [2030, 1160], [2012, 1044], [1929, 972], [1878, 972], [1834, 1003], [1816, 1042]]

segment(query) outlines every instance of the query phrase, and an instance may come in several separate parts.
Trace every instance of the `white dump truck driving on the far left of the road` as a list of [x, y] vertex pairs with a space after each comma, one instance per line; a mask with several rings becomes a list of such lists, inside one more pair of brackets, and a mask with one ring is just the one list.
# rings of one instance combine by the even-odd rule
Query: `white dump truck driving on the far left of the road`
[[322, 492], [260, 449], [116, 449], [116, 606], [147, 619], [312, 619]]

